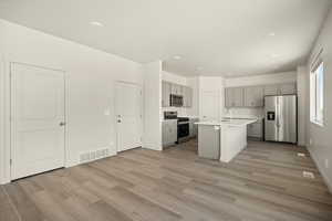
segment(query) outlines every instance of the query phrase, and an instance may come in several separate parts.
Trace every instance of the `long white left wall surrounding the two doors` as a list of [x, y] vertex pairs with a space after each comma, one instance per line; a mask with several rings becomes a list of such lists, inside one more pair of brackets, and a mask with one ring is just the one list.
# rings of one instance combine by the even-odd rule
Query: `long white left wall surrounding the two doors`
[[[108, 147], [114, 154], [114, 85], [116, 81], [142, 85], [142, 65], [4, 20], [0, 20], [0, 182], [9, 180], [9, 144], [3, 128], [8, 124], [3, 118], [8, 110], [3, 106], [3, 93], [8, 93], [9, 62], [65, 71], [69, 81], [70, 166], [79, 162], [81, 151]], [[6, 98], [8, 101], [8, 96]], [[104, 115], [105, 110], [111, 115]]]

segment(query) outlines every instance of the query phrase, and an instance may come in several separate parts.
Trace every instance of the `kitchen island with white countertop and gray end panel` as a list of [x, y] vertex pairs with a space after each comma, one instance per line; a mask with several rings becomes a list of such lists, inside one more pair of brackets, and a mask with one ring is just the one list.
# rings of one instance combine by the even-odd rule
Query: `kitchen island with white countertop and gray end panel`
[[198, 156], [229, 162], [247, 147], [247, 125], [257, 119], [198, 122]]

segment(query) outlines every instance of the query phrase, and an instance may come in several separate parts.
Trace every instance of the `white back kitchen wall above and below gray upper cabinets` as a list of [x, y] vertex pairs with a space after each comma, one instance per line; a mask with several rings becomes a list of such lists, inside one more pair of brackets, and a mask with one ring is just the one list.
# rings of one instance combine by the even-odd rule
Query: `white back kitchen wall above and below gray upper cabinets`
[[[226, 87], [255, 86], [268, 84], [282, 84], [297, 82], [298, 73], [282, 72], [274, 74], [231, 77], [225, 80]], [[263, 116], [263, 108], [228, 108], [226, 115], [229, 116]]]

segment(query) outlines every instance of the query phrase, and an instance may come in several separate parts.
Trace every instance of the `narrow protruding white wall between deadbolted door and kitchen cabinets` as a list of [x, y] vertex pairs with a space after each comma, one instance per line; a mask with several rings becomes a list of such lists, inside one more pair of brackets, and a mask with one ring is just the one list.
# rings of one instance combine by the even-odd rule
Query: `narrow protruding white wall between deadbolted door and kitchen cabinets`
[[162, 62], [143, 65], [144, 136], [143, 147], [162, 150]]

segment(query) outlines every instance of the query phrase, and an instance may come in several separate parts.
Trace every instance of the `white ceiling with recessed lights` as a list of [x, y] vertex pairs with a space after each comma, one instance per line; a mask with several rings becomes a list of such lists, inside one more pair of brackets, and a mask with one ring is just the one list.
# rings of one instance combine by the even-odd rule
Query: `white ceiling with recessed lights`
[[330, 0], [0, 0], [0, 18], [136, 62], [164, 60], [168, 72], [236, 76], [294, 70], [329, 8]]

